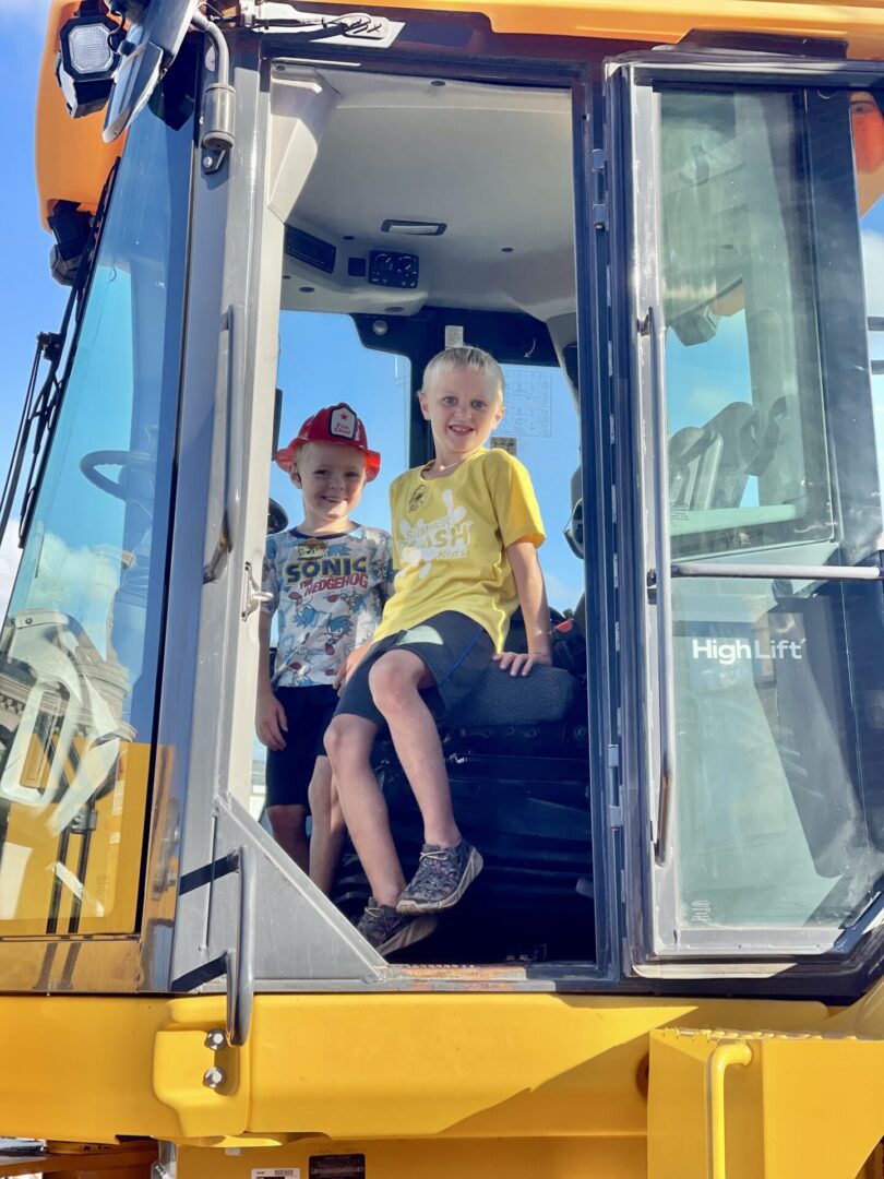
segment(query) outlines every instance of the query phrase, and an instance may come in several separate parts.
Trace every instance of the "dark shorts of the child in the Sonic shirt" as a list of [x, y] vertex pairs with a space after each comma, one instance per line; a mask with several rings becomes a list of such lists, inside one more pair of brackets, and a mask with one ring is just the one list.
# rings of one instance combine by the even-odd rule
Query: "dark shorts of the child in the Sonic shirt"
[[337, 707], [334, 687], [277, 687], [289, 731], [285, 749], [268, 750], [268, 806], [306, 806], [306, 788], [317, 757], [325, 756], [323, 737]]

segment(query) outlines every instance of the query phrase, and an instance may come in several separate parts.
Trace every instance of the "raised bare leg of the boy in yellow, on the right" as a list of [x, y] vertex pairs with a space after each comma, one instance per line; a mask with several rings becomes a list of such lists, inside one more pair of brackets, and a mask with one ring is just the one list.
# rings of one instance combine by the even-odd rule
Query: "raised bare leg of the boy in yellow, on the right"
[[423, 817], [423, 842], [456, 848], [461, 832], [451, 809], [442, 743], [420, 689], [434, 680], [411, 651], [389, 651], [369, 673], [371, 698], [390, 726], [390, 737]]

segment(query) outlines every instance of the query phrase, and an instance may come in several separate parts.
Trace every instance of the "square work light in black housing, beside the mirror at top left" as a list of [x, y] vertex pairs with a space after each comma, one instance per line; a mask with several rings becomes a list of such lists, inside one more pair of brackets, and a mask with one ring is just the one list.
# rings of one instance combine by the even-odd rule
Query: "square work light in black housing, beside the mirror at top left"
[[59, 31], [55, 78], [74, 119], [100, 111], [119, 62], [124, 33], [95, 4], [83, 4]]

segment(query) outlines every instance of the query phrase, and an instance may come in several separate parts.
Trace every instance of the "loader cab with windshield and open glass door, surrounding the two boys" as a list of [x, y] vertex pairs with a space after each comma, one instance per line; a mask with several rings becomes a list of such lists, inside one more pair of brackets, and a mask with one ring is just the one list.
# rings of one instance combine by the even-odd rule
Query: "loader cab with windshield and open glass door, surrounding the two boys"
[[[131, 121], [7, 496], [7, 989], [226, 986], [242, 1036], [256, 989], [879, 969], [879, 67], [768, 53], [759, 85], [745, 50], [550, 59], [480, 25], [231, 21], [230, 141], [218, 29], [191, 32]], [[487, 867], [388, 963], [352, 851], [326, 898], [258, 822], [271, 455], [349, 401], [383, 455], [358, 518], [388, 525], [457, 343], [504, 367], [492, 446], [539, 493], [555, 666], [447, 719]], [[375, 769], [408, 871], [383, 739]]]

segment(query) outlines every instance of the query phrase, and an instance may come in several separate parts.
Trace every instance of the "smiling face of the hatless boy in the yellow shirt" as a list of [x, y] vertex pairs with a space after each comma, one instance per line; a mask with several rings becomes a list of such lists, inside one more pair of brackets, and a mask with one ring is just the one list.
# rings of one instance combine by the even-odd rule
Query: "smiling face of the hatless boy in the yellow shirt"
[[418, 400], [433, 428], [437, 457], [466, 459], [486, 444], [503, 417], [500, 387], [475, 369], [443, 373]]

